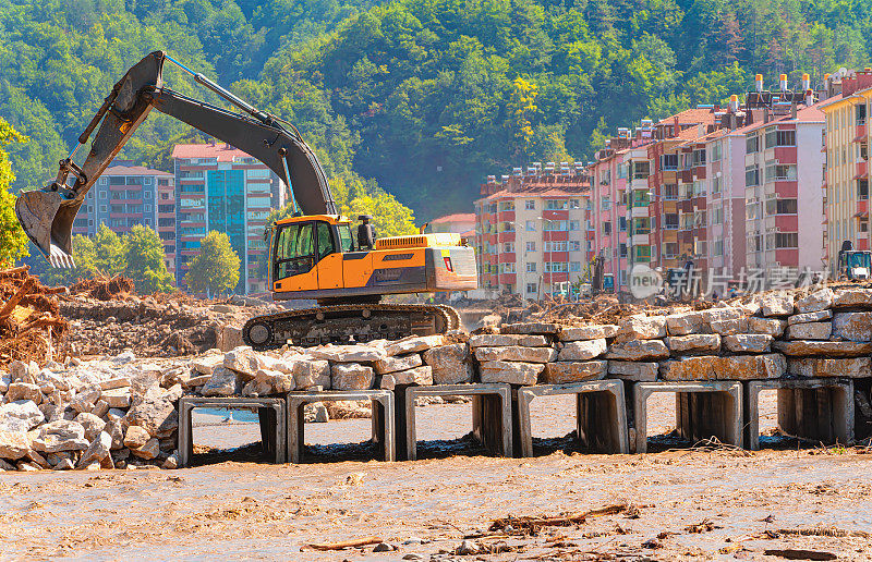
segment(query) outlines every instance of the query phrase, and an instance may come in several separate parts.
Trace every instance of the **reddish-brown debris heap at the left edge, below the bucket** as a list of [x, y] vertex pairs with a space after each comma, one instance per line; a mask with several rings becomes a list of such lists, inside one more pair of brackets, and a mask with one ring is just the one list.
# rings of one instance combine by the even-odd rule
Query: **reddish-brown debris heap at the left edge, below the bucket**
[[64, 289], [43, 286], [28, 269], [0, 271], [0, 366], [16, 359], [51, 358], [68, 328], [55, 297]]

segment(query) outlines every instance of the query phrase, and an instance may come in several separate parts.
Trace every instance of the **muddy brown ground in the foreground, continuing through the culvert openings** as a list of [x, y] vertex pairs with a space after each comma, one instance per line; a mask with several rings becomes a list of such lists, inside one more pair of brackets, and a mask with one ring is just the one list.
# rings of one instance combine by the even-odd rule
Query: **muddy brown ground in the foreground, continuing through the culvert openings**
[[[535, 433], [570, 431], [570, 407], [543, 400]], [[650, 431], [668, 430], [669, 401], [650, 407]], [[772, 398], [762, 417], [764, 428], [773, 425]], [[310, 424], [306, 440], [320, 444], [318, 460], [330, 460], [342, 451], [335, 443], [365, 440], [368, 424]], [[446, 450], [434, 442], [470, 430], [469, 404], [422, 407], [417, 426], [429, 441], [422, 456], [433, 456], [427, 451]], [[194, 437], [198, 445], [230, 448], [257, 432], [254, 424], [201, 415]], [[448, 445], [463, 453], [458, 442]], [[872, 559], [872, 454], [860, 449], [558, 450], [536, 459], [465, 452], [392, 464], [334, 456], [299, 466], [3, 473], [0, 560], [784, 560], [766, 552], [791, 554], [786, 549], [806, 560]], [[493, 520], [509, 515], [610, 505], [630, 509], [534, 535], [487, 533]], [[823, 528], [837, 536], [819, 536]], [[306, 548], [372, 536], [397, 550]], [[464, 536], [480, 553], [455, 554]]]

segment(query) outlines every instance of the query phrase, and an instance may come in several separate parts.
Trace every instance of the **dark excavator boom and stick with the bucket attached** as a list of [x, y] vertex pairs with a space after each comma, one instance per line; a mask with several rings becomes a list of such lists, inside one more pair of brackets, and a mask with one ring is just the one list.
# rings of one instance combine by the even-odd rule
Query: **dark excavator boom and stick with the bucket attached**
[[[31, 241], [55, 267], [74, 267], [72, 228], [85, 194], [111, 163], [152, 108], [250, 154], [290, 183], [296, 204], [308, 215], [335, 215], [336, 205], [326, 174], [315, 152], [295, 129], [281, 126], [275, 118], [256, 110], [233, 94], [184, 65], [183, 70], [209, 89], [249, 115], [182, 96], [164, 87], [166, 60], [153, 52], [132, 66], [116, 84], [88, 126], [78, 137], [78, 146], [61, 160], [58, 176], [48, 186], [22, 193], [15, 201], [15, 215]], [[75, 152], [99, 124], [85, 162], [73, 162]], [[75, 182], [70, 185], [70, 175]]]

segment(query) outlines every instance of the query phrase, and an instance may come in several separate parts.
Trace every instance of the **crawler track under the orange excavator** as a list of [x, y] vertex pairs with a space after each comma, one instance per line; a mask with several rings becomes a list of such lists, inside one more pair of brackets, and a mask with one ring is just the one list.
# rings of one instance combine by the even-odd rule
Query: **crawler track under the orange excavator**
[[290, 344], [312, 347], [324, 343], [363, 343], [432, 335], [460, 328], [450, 306], [344, 304], [256, 316], [242, 327], [242, 339], [255, 350]]

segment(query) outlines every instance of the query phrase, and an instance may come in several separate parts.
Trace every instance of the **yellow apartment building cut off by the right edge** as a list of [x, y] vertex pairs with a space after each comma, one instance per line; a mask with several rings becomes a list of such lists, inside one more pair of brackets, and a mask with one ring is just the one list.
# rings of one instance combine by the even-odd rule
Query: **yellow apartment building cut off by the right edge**
[[824, 245], [829, 272], [837, 276], [838, 252], [845, 241], [850, 241], [855, 249], [872, 249], [869, 228], [872, 135], [868, 124], [872, 115], [872, 69], [828, 76], [825, 87], [833, 97], [821, 106], [826, 119]]

